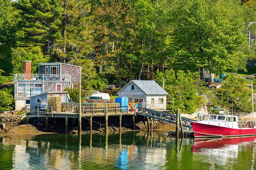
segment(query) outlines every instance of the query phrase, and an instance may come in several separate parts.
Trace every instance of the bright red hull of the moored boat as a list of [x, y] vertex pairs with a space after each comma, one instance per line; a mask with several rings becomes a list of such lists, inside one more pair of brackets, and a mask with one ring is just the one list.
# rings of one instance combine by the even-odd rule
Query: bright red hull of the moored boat
[[230, 128], [191, 122], [195, 138], [217, 138], [256, 135], [256, 128]]

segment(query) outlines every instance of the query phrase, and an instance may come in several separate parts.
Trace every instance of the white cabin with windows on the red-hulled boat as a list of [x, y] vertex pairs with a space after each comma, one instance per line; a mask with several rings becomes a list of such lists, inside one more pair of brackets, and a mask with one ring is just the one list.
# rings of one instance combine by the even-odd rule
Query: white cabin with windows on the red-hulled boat
[[209, 114], [202, 116], [201, 123], [223, 127], [238, 128], [238, 117], [233, 115]]

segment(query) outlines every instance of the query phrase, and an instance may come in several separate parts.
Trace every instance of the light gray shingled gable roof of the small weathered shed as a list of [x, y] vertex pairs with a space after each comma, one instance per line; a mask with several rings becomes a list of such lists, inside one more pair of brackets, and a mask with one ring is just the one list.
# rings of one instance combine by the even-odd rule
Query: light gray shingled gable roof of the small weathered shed
[[[138, 86], [146, 95], [168, 95], [168, 93], [154, 80], [132, 80], [128, 84], [131, 82], [136, 84], [136, 86]], [[128, 84], [126, 84], [126, 86]], [[117, 94], [126, 88], [126, 86], [124, 86]]]

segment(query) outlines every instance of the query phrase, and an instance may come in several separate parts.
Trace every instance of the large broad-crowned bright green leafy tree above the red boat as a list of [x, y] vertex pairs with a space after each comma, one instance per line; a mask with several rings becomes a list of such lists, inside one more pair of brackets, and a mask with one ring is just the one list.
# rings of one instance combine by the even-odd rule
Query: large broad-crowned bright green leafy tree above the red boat
[[[171, 66], [222, 73], [245, 70], [251, 54], [238, 0], [185, 0], [173, 3]], [[212, 74], [210, 74], [212, 75]], [[203, 75], [201, 74], [201, 79]], [[213, 78], [211, 79], [213, 80]]]

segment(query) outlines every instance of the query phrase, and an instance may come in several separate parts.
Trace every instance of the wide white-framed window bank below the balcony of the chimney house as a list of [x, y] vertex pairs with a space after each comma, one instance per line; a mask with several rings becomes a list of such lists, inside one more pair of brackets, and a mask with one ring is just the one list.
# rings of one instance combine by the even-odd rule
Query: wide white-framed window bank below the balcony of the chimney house
[[43, 93], [43, 84], [36, 83], [18, 83], [18, 96], [31, 97]]

